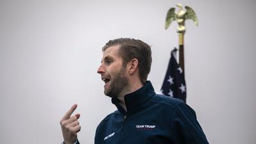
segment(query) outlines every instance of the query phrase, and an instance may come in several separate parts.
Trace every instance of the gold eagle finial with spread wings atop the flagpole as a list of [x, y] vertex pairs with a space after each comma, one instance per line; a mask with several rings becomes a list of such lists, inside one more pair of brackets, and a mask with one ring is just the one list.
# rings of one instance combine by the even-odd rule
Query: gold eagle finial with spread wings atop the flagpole
[[186, 31], [185, 20], [191, 19], [195, 22], [195, 25], [198, 26], [198, 19], [196, 17], [196, 13], [194, 12], [194, 10], [192, 8], [190, 8], [189, 6], [185, 6], [186, 11], [184, 11], [182, 9], [182, 4], [177, 3], [176, 6], [179, 8], [177, 13], [175, 13], [175, 8], [170, 8], [170, 10], [168, 11], [168, 13], [166, 15], [165, 29], [168, 29], [170, 24], [173, 21], [177, 20], [177, 22], [179, 24], [177, 33], [184, 35], [184, 33]]

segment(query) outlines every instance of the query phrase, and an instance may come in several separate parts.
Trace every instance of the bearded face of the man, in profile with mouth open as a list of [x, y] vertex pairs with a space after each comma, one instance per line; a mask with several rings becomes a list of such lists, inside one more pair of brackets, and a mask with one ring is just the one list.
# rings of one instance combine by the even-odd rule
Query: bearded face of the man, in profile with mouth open
[[126, 68], [118, 51], [119, 45], [106, 49], [103, 52], [102, 63], [97, 70], [105, 83], [104, 93], [109, 97], [118, 97], [128, 84]]

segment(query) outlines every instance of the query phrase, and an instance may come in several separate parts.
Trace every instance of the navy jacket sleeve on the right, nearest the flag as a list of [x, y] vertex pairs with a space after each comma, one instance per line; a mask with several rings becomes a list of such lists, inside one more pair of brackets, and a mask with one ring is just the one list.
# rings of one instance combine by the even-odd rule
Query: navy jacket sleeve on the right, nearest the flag
[[185, 103], [175, 108], [171, 131], [171, 139], [175, 144], [209, 144], [202, 127], [196, 120], [195, 111]]

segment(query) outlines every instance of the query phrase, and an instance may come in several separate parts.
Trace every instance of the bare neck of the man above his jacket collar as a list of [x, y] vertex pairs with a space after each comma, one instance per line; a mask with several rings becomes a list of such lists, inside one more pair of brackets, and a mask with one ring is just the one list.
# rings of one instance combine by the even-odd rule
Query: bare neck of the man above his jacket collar
[[141, 81], [129, 81], [129, 85], [126, 88], [124, 88], [124, 90], [122, 90], [120, 95], [117, 97], [120, 105], [125, 109], [125, 111], [127, 111], [127, 108], [125, 106], [124, 96], [128, 93], [132, 93], [136, 90], [139, 90], [142, 86], [143, 84], [141, 83]]

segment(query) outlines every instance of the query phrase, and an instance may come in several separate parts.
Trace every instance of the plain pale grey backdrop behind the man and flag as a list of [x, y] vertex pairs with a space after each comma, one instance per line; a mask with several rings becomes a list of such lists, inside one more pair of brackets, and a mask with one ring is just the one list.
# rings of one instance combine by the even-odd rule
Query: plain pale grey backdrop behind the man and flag
[[177, 24], [164, 30], [169, 8], [191, 6], [185, 67], [188, 104], [210, 143], [256, 141], [256, 2], [0, 1], [0, 143], [61, 143], [60, 118], [77, 103], [81, 143], [116, 108], [97, 74], [101, 47], [119, 37], [152, 45], [148, 77], [159, 92], [177, 46]]

